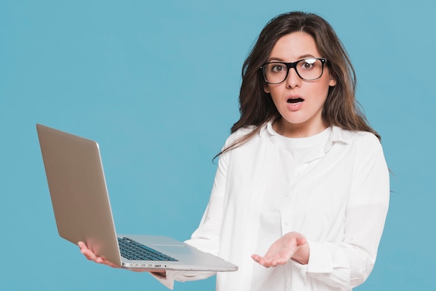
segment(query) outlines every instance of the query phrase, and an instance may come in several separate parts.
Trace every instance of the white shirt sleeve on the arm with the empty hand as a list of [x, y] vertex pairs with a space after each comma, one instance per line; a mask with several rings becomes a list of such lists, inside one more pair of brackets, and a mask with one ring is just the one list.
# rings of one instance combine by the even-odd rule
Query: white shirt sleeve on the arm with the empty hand
[[375, 136], [365, 141], [357, 150], [343, 241], [308, 242], [309, 263], [293, 262], [305, 281], [350, 290], [373, 269], [389, 205], [389, 170], [380, 142]]

